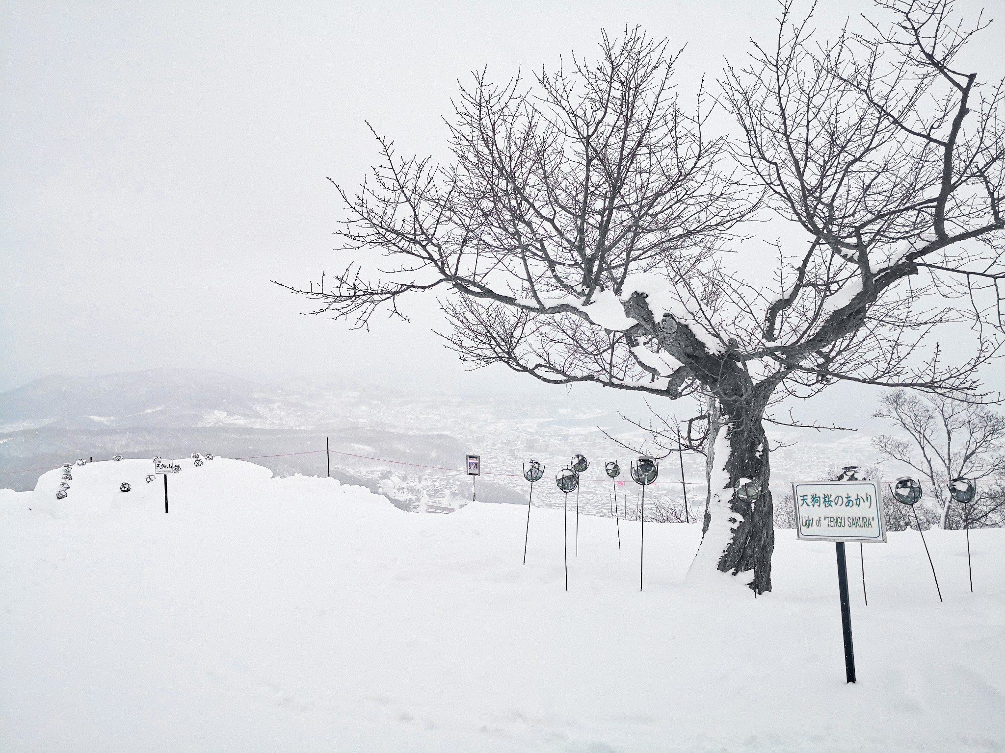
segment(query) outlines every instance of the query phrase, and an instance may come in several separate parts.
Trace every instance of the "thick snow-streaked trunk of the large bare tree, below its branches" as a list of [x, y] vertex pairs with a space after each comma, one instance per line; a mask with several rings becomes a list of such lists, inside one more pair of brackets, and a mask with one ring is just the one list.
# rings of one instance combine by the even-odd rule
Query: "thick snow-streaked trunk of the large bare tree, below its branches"
[[[719, 402], [711, 414], [709, 497], [701, 544], [688, 575], [715, 568], [741, 578], [758, 593], [770, 591], [775, 527], [764, 406], [752, 401]], [[737, 498], [741, 479], [760, 482], [762, 492], [755, 502]]]

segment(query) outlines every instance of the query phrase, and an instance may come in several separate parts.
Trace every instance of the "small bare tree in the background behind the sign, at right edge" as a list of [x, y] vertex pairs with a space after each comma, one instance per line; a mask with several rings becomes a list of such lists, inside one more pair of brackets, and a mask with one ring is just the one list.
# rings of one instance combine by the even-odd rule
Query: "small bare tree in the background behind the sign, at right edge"
[[[1005, 476], [1005, 417], [986, 406], [940, 395], [924, 399], [903, 390], [883, 393], [873, 416], [889, 419], [908, 439], [881, 435], [873, 440], [880, 454], [918, 471], [930, 486], [942, 528], [994, 525], [1005, 516], [1000, 481]], [[949, 482], [977, 482], [974, 501], [951, 503]]]

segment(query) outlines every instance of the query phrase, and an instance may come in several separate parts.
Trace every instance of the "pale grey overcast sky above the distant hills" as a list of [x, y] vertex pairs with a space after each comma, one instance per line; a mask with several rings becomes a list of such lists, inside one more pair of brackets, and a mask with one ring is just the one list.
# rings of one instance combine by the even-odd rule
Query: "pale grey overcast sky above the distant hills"
[[[821, 30], [871, 7], [823, 5]], [[458, 78], [592, 55], [602, 28], [626, 23], [688, 45], [686, 90], [724, 55], [739, 60], [750, 36], [770, 38], [777, 11], [750, 0], [0, 8], [0, 390], [155, 366], [513, 389], [526, 378], [463, 373], [429, 333], [432, 306], [367, 334], [299, 315], [307, 301], [269, 282], [336, 266], [342, 213], [326, 179], [352, 187], [376, 159], [365, 120], [402, 153], [443, 155]], [[989, 30], [968, 53], [986, 78], [1005, 72], [1001, 38]]]

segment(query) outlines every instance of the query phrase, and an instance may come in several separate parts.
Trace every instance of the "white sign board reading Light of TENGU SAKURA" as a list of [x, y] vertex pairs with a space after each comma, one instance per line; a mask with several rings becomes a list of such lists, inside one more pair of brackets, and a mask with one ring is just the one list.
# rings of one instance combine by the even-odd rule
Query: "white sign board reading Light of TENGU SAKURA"
[[804, 481], [792, 497], [800, 539], [886, 542], [878, 481]]

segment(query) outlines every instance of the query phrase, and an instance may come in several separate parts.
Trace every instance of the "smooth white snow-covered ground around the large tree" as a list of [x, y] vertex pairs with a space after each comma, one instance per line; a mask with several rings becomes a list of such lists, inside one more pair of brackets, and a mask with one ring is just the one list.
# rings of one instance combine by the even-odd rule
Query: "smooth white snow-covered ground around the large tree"
[[[1005, 746], [1005, 531], [834, 547], [778, 531], [775, 590], [684, 580], [694, 525], [149, 461], [0, 491], [0, 750], [958, 751]], [[123, 481], [132, 491], [122, 493]], [[29, 509], [30, 508], [30, 509]], [[58, 517], [57, 517], [58, 516]], [[726, 578], [727, 576], [723, 576]], [[732, 584], [729, 584], [732, 585]]]

